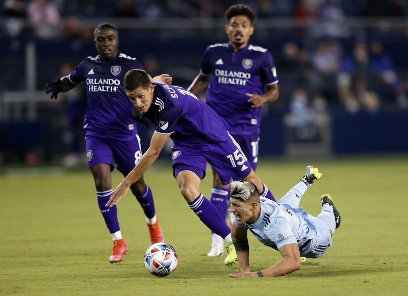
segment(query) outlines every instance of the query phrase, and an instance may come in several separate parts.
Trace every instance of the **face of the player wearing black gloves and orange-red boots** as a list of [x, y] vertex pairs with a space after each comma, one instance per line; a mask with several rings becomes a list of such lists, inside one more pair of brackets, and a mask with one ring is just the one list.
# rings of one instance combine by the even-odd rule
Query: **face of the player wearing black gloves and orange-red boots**
[[110, 60], [116, 56], [119, 37], [114, 29], [102, 29], [96, 31], [95, 46], [102, 60]]

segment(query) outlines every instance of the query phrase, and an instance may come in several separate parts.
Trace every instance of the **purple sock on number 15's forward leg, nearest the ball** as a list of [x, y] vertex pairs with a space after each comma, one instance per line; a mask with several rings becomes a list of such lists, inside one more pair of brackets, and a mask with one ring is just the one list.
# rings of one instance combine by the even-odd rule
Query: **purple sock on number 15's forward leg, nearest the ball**
[[217, 208], [202, 194], [188, 204], [202, 223], [214, 233], [224, 238], [231, 233], [230, 228], [225, 225], [225, 219], [222, 219]]

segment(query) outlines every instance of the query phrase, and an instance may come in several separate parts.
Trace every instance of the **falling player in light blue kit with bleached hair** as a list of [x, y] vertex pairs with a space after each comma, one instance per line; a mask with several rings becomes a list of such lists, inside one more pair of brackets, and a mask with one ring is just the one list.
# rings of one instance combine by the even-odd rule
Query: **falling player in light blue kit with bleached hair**
[[[303, 178], [278, 203], [260, 198], [250, 182], [231, 183], [231, 209], [235, 221], [231, 236], [240, 269], [231, 277], [283, 276], [300, 269], [300, 256], [319, 258], [332, 246], [331, 238], [340, 226], [340, 213], [330, 195], [321, 197], [321, 212], [311, 216], [299, 207], [308, 188], [322, 174], [312, 165]], [[283, 259], [259, 272], [250, 272], [247, 229], [262, 244], [279, 250]]]

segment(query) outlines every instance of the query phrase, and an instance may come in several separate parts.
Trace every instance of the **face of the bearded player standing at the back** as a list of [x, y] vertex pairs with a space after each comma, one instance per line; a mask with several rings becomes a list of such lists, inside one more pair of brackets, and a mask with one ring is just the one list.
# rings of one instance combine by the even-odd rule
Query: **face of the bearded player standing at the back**
[[234, 49], [241, 49], [248, 44], [249, 37], [253, 33], [253, 26], [245, 15], [236, 15], [225, 25], [225, 32]]

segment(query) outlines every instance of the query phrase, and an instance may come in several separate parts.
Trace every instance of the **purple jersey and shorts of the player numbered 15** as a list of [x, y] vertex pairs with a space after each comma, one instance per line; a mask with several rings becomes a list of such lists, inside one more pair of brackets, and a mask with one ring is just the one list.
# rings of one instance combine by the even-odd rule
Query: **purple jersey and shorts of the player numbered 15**
[[208, 161], [224, 184], [249, 175], [248, 159], [210, 106], [184, 88], [153, 85], [153, 102], [143, 116], [156, 126], [156, 132], [171, 133], [173, 168], [184, 164], [205, 171]]

